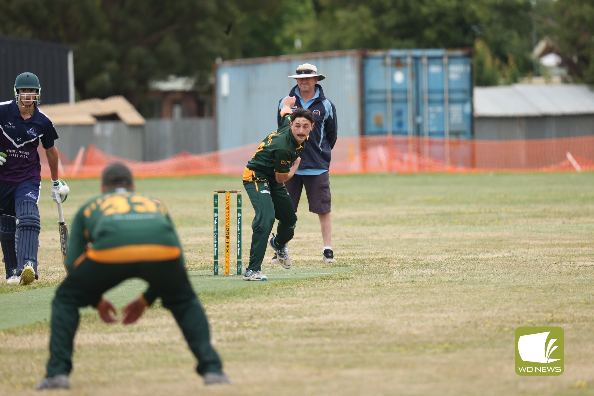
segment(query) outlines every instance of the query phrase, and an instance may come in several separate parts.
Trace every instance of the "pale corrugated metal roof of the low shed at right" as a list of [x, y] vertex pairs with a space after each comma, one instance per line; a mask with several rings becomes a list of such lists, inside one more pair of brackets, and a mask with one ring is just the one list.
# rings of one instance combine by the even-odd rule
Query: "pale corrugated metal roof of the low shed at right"
[[474, 99], [475, 117], [594, 114], [594, 92], [585, 84], [475, 87]]

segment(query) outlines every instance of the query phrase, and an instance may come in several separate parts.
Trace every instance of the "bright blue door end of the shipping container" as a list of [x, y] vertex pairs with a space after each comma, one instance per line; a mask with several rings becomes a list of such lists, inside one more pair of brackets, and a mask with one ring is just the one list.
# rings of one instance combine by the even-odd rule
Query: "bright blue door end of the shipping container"
[[363, 70], [364, 134], [473, 136], [467, 51], [367, 52]]

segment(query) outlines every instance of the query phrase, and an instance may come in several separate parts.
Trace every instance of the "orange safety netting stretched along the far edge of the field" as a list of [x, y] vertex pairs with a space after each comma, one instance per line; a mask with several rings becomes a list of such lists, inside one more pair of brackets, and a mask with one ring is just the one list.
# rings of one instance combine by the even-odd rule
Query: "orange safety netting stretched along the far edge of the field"
[[[111, 162], [123, 162], [136, 177], [241, 175], [258, 144], [204, 154], [179, 153], [160, 161], [134, 161], [81, 147], [72, 161], [60, 156], [60, 174], [100, 177]], [[40, 149], [42, 177], [49, 178]], [[332, 174], [377, 172], [553, 172], [594, 170], [594, 136], [533, 140], [462, 140], [407, 136], [339, 138]]]

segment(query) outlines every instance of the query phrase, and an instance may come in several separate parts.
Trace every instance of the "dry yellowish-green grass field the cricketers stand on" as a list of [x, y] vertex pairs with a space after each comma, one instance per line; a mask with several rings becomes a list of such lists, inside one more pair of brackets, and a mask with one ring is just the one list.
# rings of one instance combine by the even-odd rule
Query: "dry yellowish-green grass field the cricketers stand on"
[[[97, 180], [69, 185], [67, 221], [99, 192]], [[157, 306], [126, 327], [84, 312], [72, 391], [52, 394], [594, 394], [594, 173], [365, 175], [332, 177], [331, 186], [338, 265], [321, 262], [319, 222], [303, 207], [293, 269], [264, 265], [282, 281], [247, 286], [204, 275], [212, 190], [241, 188], [237, 178], [138, 180], [175, 219], [235, 385], [204, 388], [172, 316]], [[49, 326], [33, 320], [64, 276], [55, 211], [45, 182], [42, 277], [0, 285], [2, 395], [34, 394], [45, 373]], [[247, 196], [244, 218], [247, 264]], [[121, 288], [118, 305], [141, 287]], [[28, 314], [19, 320], [33, 323], [2, 326]], [[563, 375], [516, 375], [514, 330], [546, 325], [565, 331]]]

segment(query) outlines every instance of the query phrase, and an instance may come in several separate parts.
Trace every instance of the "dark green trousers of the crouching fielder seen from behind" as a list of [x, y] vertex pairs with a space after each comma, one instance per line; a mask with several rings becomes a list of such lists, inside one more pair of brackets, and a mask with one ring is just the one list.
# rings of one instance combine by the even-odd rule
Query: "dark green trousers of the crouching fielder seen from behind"
[[219, 356], [210, 345], [206, 316], [189, 284], [182, 258], [126, 264], [103, 264], [87, 258], [72, 269], [53, 298], [47, 376], [68, 375], [72, 370], [78, 309], [97, 304], [103, 293], [129, 278], [142, 278], [156, 289], [197, 357], [198, 373], [222, 372]]

